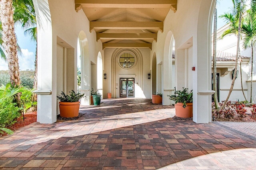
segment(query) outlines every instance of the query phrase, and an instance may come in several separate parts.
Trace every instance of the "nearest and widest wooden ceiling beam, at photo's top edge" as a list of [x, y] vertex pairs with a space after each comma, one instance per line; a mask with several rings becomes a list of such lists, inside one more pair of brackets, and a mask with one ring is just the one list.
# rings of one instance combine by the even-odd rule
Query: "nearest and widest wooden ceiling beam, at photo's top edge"
[[177, 0], [75, 0], [84, 8], [171, 8]]

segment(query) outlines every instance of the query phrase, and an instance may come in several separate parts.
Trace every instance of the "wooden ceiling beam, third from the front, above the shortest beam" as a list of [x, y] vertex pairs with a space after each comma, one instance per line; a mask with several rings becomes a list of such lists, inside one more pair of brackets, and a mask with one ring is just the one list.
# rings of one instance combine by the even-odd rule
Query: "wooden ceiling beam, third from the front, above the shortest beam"
[[157, 40], [157, 33], [97, 33], [99, 39], [154, 39]]

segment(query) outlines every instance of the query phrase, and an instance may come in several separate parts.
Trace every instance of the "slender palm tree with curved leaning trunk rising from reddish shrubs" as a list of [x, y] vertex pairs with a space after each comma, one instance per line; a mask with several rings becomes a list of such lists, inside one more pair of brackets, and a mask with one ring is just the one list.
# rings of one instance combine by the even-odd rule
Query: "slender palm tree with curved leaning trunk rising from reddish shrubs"
[[[233, 9], [234, 18], [238, 19], [237, 20], [238, 21], [238, 34], [237, 34], [237, 46], [236, 46], [236, 63], [235, 63], [235, 69], [234, 69], [234, 72], [236, 73], [237, 64], [238, 64], [238, 55], [239, 55], [241, 23], [242, 23], [242, 16], [246, 12], [246, 0], [232, 0], [232, 2], [234, 4], [234, 9]], [[235, 80], [236, 80], [236, 76], [234, 76], [233, 79], [232, 79], [232, 83], [231, 83], [231, 86], [230, 86], [228, 96], [227, 96], [224, 104], [222, 105], [221, 109], [223, 109], [224, 106], [226, 105], [226, 103], [228, 102], [228, 99], [229, 99], [229, 97], [231, 95], [231, 92], [234, 88]]]

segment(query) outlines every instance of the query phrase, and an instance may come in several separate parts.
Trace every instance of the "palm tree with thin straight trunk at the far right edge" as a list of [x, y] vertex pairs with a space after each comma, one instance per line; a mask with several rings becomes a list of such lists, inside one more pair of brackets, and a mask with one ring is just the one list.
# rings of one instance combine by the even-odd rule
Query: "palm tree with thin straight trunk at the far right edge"
[[[248, 10], [248, 15], [245, 18], [244, 24], [242, 25], [242, 33], [243, 33], [243, 48], [247, 49], [251, 47], [252, 55], [251, 55], [251, 75], [250, 75], [250, 103], [252, 103], [252, 71], [253, 71], [253, 47], [256, 42], [256, 25], [252, 24], [252, 14], [250, 10]], [[254, 15], [255, 20], [255, 15]]]

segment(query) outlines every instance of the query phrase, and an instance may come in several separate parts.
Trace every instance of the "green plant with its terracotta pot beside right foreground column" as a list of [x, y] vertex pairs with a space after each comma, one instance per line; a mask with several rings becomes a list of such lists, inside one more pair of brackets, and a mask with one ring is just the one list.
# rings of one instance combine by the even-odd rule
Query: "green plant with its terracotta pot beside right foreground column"
[[174, 95], [167, 95], [170, 100], [175, 102], [175, 114], [178, 117], [193, 117], [193, 92], [188, 88], [175, 90]]

